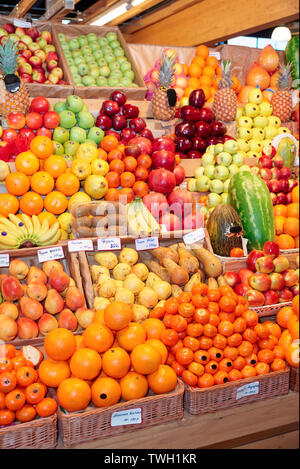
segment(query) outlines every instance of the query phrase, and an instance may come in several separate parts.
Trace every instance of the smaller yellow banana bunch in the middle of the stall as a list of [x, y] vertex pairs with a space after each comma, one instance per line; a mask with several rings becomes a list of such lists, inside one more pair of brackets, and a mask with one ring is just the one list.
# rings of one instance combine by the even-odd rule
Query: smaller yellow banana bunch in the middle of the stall
[[141, 198], [127, 205], [127, 228], [130, 236], [145, 237], [157, 235], [160, 225], [144, 205]]

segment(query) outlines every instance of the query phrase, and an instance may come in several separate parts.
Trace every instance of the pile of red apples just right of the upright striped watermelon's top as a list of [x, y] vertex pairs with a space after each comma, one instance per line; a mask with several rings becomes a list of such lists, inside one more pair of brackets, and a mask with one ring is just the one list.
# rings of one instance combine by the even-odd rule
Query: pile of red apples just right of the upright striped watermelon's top
[[292, 203], [292, 190], [298, 186], [298, 182], [292, 179], [292, 171], [284, 166], [284, 160], [276, 155], [276, 150], [272, 145], [271, 157], [267, 156], [263, 150], [256, 171], [271, 192], [273, 205]]

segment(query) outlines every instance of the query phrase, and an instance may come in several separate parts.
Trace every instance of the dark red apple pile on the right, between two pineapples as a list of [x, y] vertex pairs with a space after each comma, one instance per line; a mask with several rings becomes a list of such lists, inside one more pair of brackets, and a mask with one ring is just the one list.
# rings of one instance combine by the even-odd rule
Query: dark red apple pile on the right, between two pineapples
[[178, 109], [182, 122], [175, 127], [176, 151], [181, 158], [201, 158], [209, 145], [224, 143], [231, 139], [226, 126], [215, 120], [213, 111], [203, 107], [205, 95], [202, 89], [193, 90], [189, 104]]

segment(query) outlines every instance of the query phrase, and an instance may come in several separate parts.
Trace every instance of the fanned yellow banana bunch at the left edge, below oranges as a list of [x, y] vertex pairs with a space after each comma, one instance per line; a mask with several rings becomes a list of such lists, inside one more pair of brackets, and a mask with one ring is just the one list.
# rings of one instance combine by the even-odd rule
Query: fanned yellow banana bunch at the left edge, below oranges
[[60, 239], [61, 229], [55, 222], [51, 227], [47, 219], [40, 223], [36, 215], [25, 213], [21, 218], [9, 214], [9, 219], [0, 219], [0, 249], [19, 249], [34, 246], [49, 246]]

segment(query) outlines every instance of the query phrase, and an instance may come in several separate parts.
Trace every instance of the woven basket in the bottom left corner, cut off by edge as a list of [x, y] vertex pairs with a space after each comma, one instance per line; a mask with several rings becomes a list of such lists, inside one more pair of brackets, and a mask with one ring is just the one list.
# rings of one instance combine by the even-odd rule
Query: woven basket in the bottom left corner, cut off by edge
[[54, 449], [56, 444], [57, 413], [0, 427], [0, 449]]

